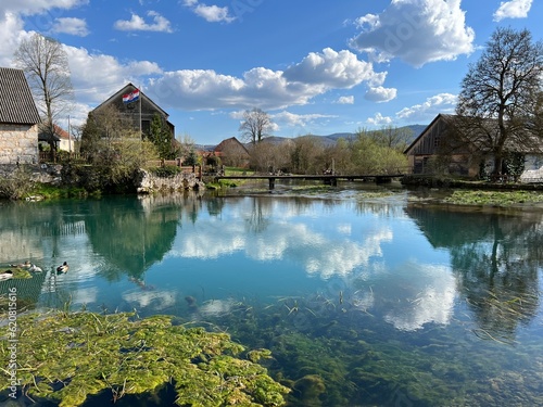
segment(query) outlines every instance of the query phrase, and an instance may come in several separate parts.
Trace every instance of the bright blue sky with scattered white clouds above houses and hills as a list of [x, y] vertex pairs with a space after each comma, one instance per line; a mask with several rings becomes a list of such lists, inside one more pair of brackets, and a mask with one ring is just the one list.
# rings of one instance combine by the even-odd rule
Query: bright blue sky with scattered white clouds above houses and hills
[[13, 66], [33, 31], [61, 41], [74, 124], [132, 82], [169, 114], [178, 139], [200, 144], [239, 138], [253, 107], [269, 114], [276, 136], [354, 132], [454, 112], [496, 27], [542, 39], [542, 3], [2, 0], [0, 66]]

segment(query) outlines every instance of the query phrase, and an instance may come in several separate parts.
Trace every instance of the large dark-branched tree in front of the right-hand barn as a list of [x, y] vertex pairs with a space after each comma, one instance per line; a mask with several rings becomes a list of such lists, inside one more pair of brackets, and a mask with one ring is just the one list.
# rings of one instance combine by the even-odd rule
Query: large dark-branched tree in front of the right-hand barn
[[529, 30], [497, 28], [462, 81], [458, 135], [489, 152], [494, 174], [508, 150], [535, 148], [538, 98], [543, 80], [543, 43]]

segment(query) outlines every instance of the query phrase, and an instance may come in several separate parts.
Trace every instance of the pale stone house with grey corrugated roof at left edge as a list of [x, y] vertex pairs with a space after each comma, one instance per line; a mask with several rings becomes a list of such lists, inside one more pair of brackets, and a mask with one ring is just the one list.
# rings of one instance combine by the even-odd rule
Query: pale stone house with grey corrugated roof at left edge
[[24, 72], [0, 67], [0, 165], [38, 162], [40, 122]]

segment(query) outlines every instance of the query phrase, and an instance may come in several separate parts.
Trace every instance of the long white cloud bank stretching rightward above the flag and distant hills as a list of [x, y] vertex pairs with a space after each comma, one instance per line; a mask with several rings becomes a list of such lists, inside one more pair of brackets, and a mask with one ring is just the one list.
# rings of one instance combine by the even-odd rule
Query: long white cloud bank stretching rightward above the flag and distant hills
[[177, 109], [278, 110], [307, 104], [331, 89], [383, 79], [370, 63], [359, 61], [354, 53], [327, 48], [321, 53], [310, 53], [285, 72], [255, 67], [235, 77], [212, 69], [181, 69], [152, 79], [149, 90], [157, 102]]

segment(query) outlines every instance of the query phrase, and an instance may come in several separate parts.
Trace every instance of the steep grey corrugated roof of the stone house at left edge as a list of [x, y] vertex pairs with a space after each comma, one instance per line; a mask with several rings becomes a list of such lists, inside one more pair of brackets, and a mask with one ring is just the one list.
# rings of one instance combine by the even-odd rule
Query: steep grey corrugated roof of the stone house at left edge
[[24, 72], [0, 67], [0, 123], [34, 125], [39, 122]]

